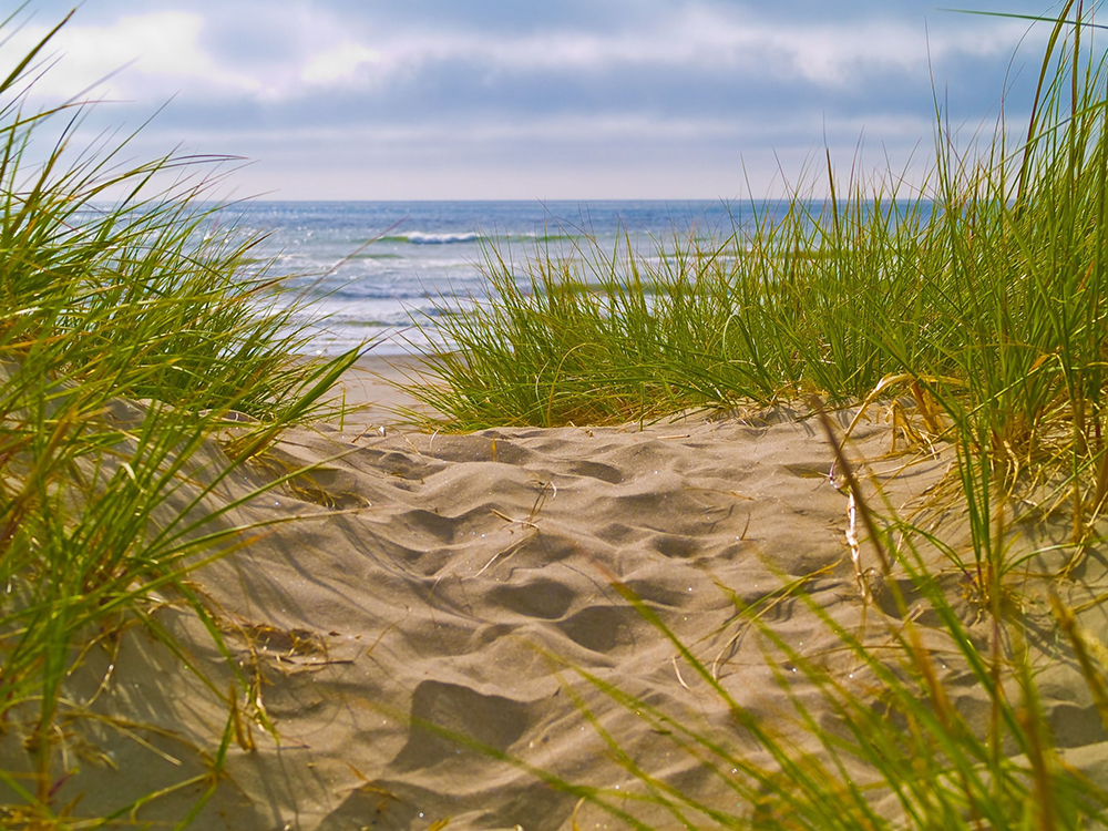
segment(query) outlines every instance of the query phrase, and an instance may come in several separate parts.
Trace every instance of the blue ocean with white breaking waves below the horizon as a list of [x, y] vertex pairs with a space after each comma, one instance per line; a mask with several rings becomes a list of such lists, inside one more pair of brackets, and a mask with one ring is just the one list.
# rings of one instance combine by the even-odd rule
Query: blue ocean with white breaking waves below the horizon
[[[253, 202], [224, 208], [246, 232], [267, 233], [260, 256], [309, 301], [307, 351], [372, 343], [375, 355], [450, 348], [437, 318], [486, 297], [482, 264], [495, 252], [523, 278], [546, 249], [575, 257], [595, 243], [629, 242], [664, 256], [675, 234], [726, 237], [750, 203], [722, 202]], [[525, 285], [526, 280], [521, 279]], [[420, 327], [413, 326], [413, 320]]]

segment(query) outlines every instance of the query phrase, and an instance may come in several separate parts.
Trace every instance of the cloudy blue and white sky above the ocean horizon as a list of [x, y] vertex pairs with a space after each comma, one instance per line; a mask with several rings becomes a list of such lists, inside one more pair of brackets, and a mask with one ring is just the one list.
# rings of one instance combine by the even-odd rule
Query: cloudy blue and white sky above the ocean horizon
[[[0, 69], [71, 8], [31, 0]], [[1046, 33], [917, 0], [85, 0], [32, 101], [102, 102], [83, 141], [145, 124], [136, 161], [249, 160], [236, 196], [732, 199], [819, 193], [825, 148], [917, 179], [936, 101], [963, 140], [1020, 120]]]

